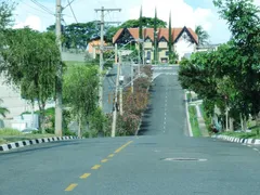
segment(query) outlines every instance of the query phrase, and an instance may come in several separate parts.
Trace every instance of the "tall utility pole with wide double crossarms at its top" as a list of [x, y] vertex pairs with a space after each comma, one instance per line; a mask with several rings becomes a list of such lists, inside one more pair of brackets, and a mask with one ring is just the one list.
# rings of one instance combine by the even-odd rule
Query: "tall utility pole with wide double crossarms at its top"
[[[99, 105], [102, 108], [103, 107], [103, 67], [104, 67], [104, 58], [103, 58], [103, 52], [104, 52], [104, 24], [105, 24], [105, 11], [112, 12], [112, 11], [121, 11], [121, 9], [104, 9], [102, 6], [101, 9], [95, 9], [95, 12], [101, 12], [101, 36], [100, 36], [100, 89], [99, 89]], [[118, 23], [118, 22], [107, 22], [107, 23]]]

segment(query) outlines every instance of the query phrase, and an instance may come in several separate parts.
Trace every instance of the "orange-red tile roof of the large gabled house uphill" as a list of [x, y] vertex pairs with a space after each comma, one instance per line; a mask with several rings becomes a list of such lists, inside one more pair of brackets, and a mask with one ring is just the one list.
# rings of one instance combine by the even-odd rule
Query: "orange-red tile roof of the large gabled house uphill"
[[[179, 35], [181, 34], [181, 31], [184, 29], [183, 28], [172, 28], [172, 40], [176, 41], [177, 38], [179, 37]], [[187, 31], [191, 34], [191, 36], [193, 37], [193, 39], [196, 41], [196, 43], [198, 43], [198, 37], [195, 34], [195, 31], [192, 28], [186, 28]], [[116, 40], [120, 37], [121, 32], [122, 32], [122, 28], [120, 28], [116, 35], [113, 37], [113, 43], [116, 42]], [[165, 39], [168, 41], [169, 39], [169, 29], [168, 28], [158, 28], [158, 40], [162, 37], [165, 37]], [[128, 28], [128, 31], [131, 34], [131, 36], [134, 39], [139, 39], [139, 28]], [[144, 38], [146, 39], [147, 37], [151, 38], [152, 41], [154, 41], [154, 28], [144, 28], [143, 29], [143, 35]]]

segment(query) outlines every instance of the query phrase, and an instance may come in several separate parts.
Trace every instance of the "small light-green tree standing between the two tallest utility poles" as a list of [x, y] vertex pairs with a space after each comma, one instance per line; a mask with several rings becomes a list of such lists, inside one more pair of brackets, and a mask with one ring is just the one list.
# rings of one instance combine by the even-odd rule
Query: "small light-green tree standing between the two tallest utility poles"
[[64, 78], [64, 99], [79, 123], [78, 136], [98, 106], [98, 68], [72, 66]]

